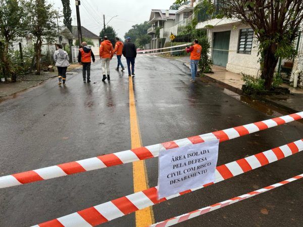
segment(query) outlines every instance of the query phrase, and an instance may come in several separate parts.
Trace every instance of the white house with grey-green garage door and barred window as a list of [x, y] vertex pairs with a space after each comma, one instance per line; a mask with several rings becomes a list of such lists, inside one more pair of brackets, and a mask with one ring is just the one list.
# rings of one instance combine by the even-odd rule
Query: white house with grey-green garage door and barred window
[[[212, 0], [216, 12], [223, 0]], [[260, 75], [258, 43], [254, 31], [235, 19], [212, 19], [203, 10], [197, 15], [197, 29], [207, 29], [211, 41], [213, 64], [227, 71], [251, 76]]]

